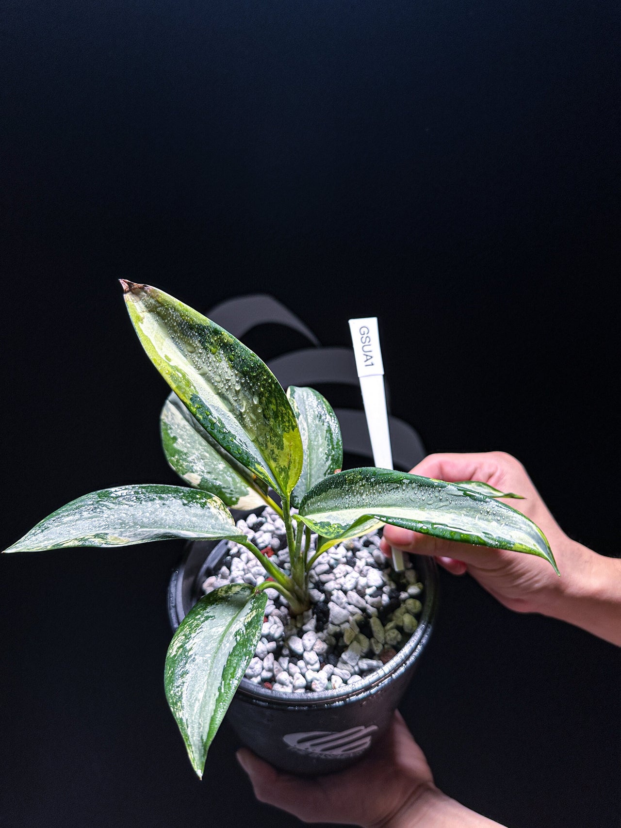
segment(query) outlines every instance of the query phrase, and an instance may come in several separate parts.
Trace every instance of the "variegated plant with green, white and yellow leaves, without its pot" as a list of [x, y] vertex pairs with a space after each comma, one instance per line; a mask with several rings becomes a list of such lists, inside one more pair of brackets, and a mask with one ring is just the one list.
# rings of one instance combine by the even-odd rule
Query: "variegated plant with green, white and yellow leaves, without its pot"
[[[166, 458], [192, 488], [137, 484], [86, 494], [7, 552], [228, 538], [261, 561], [265, 580], [201, 598], [166, 655], [166, 696], [199, 776], [261, 637], [265, 590], [278, 590], [292, 614], [309, 609], [308, 572], [330, 546], [392, 523], [527, 552], [556, 569], [541, 530], [497, 499], [512, 495], [388, 469], [341, 471], [339, 423], [320, 393], [285, 393], [267, 365], [219, 325], [154, 287], [122, 284], [138, 338], [172, 389], [161, 412]], [[265, 503], [285, 523], [288, 567], [254, 546], [229, 512]], [[312, 547], [311, 533], [318, 536]]]

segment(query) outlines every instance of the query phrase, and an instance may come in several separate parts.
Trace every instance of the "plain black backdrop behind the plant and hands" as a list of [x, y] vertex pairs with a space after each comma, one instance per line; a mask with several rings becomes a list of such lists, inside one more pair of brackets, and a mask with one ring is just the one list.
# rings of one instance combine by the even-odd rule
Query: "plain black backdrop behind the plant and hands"
[[[427, 450], [512, 452], [618, 554], [618, 24], [577, 0], [5, 0], [2, 546], [175, 482], [127, 277], [204, 310], [272, 293], [327, 345], [378, 315]], [[298, 824], [254, 804], [226, 726], [202, 784], [185, 758], [179, 554], [0, 561], [2, 825]], [[441, 586], [402, 705], [436, 782], [514, 828], [619, 825], [618, 651]]]

